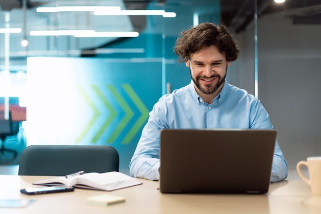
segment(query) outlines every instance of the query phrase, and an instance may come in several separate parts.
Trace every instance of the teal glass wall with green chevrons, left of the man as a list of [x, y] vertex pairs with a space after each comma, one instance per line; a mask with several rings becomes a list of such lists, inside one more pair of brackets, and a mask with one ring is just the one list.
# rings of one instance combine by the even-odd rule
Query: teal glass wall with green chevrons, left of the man
[[[0, 96], [27, 107], [27, 145], [114, 146], [126, 171], [160, 96], [190, 81], [177, 35], [219, 1], [22, 1], [0, 11]], [[24, 101], [24, 102], [22, 102]]]

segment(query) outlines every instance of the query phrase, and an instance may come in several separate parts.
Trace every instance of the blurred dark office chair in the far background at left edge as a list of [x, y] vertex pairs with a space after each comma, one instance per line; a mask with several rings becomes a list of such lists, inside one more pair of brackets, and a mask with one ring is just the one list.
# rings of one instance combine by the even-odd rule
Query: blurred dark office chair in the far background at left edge
[[0, 152], [2, 152], [2, 154], [4, 154], [5, 151], [8, 151], [13, 153], [13, 158], [17, 156], [17, 151], [5, 148], [5, 142], [7, 140], [7, 137], [17, 135], [18, 131], [19, 125], [12, 121], [11, 111], [9, 111], [9, 119], [6, 120], [5, 111], [0, 110], [0, 139], [2, 141]]

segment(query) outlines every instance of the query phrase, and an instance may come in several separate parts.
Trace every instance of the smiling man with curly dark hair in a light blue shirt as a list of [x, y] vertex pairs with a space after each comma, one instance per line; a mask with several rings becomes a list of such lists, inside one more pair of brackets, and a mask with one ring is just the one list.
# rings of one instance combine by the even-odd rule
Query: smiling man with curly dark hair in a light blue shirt
[[[159, 179], [161, 129], [273, 128], [259, 100], [225, 79], [227, 68], [237, 59], [239, 47], [223, 25], [202, 23], [183, 31], [174, 52], [178, 62], [185, 62], [190, 69], [192, 81], [162, 96], [154, 105], [129, 165], [133, 177]], [[276, 142], [270, 181], [286, 179], [287, 170], [287, 162]]]

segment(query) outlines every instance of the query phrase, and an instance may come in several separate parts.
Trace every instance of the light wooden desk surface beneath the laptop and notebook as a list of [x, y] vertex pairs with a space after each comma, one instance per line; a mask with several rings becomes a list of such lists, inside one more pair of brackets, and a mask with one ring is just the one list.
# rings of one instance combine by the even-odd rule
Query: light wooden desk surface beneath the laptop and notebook
[[[47, 177], [0, 176], [0, 199], [37, 199], [26, 208], [0, 208], [1, 213], [321, 213], [321, 196], [311, 194], [303, 181], [281, 181], [270, 185], [269, 193], [247, 194], [163, 194], [157, 181], [139, 179], [143, 185], [111, 192], [75, 189], [27, 196], [19, 189]], [[110, 206], [86, 204], [99, 194], [126, 198], [125, 203]]]

